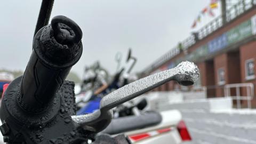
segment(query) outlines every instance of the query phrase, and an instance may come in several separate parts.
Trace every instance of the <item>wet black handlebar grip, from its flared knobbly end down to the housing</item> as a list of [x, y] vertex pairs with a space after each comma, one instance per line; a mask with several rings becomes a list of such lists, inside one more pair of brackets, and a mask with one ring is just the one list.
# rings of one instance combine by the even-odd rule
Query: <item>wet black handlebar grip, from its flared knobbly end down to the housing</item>
[[82, 55], [81, 39], [82, 30], [64, 16], [37, 32], [18, 95], [22, 109], [38, 113], [49, 105]]

